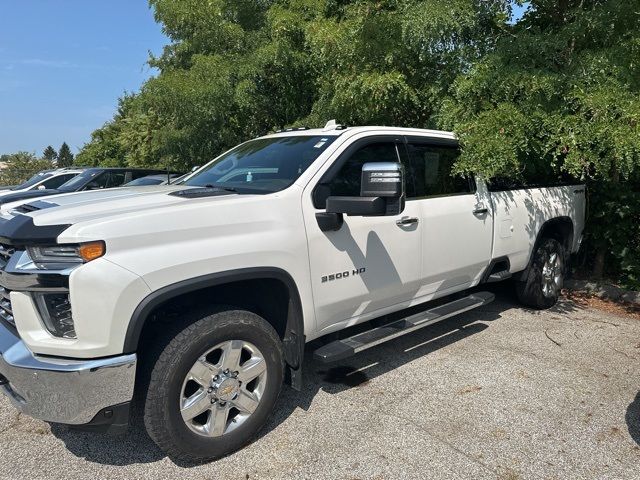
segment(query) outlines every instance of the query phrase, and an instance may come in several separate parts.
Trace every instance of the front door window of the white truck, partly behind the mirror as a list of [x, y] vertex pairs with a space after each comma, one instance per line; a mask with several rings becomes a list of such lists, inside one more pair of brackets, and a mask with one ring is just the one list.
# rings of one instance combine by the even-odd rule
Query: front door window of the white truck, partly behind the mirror
[[362, 165], [368, 162], [398, 162], [395, 143], [370, 143], [351, 154], [329, 183], [330, 195], [359, 196]]

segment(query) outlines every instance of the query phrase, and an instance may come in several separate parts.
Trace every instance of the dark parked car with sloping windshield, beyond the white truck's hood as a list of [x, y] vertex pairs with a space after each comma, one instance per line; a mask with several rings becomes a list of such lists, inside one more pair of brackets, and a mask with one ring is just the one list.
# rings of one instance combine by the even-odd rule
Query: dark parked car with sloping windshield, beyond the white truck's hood
[[28, 190], [10, 193], [0, 197], [0, 205], [5, 203], [28, 200], [32, 198], [48, 197], [60, 193], [80, 192], [83, 190], [101, 190], [103, 188], [121, 187], [137, 178], [147, 175], [162, 174], [163, 170], [149, 170], [140, 168], [88, 168], [58, 188], [44, 190]]

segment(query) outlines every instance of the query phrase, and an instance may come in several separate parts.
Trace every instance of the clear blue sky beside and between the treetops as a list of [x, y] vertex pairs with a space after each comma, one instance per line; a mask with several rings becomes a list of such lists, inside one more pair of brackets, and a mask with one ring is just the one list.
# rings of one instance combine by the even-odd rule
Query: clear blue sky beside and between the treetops
[[168, 43], [146, 0], [0, 0], [0, 20], [0, 154], [76, 152]]

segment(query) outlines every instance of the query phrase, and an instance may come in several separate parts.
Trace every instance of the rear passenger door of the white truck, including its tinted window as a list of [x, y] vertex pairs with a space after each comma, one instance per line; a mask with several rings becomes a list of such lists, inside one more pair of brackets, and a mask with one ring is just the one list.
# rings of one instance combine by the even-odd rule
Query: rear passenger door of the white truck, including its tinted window
[[407, 205], [419, 206], [422, 225], [420, 295], [446, 295], [480, 279], [491, 260], [493, 220], [486, 192], [453, 176], [455, 142], [408, 137]]

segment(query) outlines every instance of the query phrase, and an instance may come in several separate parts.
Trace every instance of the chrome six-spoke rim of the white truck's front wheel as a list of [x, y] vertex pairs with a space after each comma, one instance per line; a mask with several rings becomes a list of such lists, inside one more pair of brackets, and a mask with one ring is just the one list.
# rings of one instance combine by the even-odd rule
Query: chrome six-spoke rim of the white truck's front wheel
[[180, 413], [189, 429], [219, 437], [242, 425], [256, 410], [267, 383], [267, 363], [255, 345], [229, 340], [191, 367], [182, 384]]

